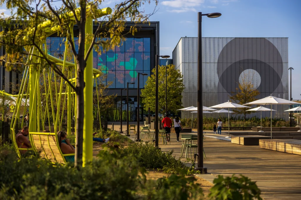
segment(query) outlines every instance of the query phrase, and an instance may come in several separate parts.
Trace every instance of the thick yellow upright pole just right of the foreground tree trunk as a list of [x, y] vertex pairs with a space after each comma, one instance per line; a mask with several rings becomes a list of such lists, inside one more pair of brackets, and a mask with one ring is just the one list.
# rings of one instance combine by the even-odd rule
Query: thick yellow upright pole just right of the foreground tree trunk
[[[93, 34], [93, 20], [92, 18], [86, 19], [86, 42], [85, 42], [85, 55], [92, 43], [91, 37], [87, 37]], [[89, 54], [86, 67], [84, 71], [84, 81], [85, 81], [85, 88], [84, 88], [84, 133], [83, 133], [83, 151], [82, 151], [82, 161], [83, 166], [85, 166], [88, 162], [92, 161], [93, 149], [93, 54], [92, 52]]]

